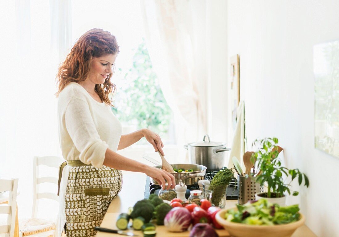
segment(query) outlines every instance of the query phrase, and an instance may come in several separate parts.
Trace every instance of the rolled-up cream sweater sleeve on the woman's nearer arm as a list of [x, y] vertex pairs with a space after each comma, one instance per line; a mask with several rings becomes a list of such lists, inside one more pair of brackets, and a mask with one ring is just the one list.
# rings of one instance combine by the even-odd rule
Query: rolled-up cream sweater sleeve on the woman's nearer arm
[[67, 132], [80, 152], [80, 161], [102, 168], [108, 145], [100, 139], [88, 102], [73, 97], [66, 107], [64, 119]]

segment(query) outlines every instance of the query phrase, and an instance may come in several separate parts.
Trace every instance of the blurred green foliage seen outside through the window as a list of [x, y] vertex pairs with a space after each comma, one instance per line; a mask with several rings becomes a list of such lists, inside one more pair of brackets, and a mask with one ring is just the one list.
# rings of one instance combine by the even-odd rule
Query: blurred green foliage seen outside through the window
[[170, 139], [168, 131], [173, 121], [172, 110], [152, 70], [144, 40], [133, 56], [133, 68], [125, 73], [122, 85], [112, 108], [120, 122], [136, 125], [137, 129], [149, 128], [158, 133], [163, 141]]

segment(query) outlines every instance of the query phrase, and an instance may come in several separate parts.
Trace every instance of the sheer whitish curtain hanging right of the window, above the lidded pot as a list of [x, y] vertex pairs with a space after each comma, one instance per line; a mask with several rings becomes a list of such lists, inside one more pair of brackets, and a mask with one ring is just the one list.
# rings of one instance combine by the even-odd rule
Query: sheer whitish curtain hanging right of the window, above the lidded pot
[[146, 43], [165, 99], [175, 114], [177, 143], [207, 132], [208, 55], [205, 1], [141, 0]]

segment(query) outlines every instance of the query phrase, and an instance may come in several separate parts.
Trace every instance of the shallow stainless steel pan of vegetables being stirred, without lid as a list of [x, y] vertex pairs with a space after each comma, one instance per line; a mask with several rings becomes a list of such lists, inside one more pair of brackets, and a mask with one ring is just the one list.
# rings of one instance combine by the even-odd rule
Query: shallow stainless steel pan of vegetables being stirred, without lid
[[[186, 185], [197, 185], [199, 180], [203, 180], [206, 174], [206, 166], [196, 165], [196, 164], [171, 164], [173, 168], [176, 169], [193, 169], [193, 172], [185, 172], [185, 173], [169, 173], [172, 174], [175, 178], [175, 183], [178, 184], [180, 180], [184, 182]], [[154, 166], [156, 168], [161, 169], [161, 165]], [[151, 183], [159, 185], [157, 181], [152, 179]]]

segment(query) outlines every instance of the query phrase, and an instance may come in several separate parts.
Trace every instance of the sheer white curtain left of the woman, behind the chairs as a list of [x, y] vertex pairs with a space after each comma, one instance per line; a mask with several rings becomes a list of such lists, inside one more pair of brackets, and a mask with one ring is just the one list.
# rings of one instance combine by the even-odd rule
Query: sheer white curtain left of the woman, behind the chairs
[[[19, 178], [20, 218], [32, 211], [33, 156], [61, 156], [55, 76], [59, 55], [66, 54], [70, 41], [56, 31], [67, 28], [70, 18], [55, 22], [55, 13], [67, 16], [66, 8], [60, 7], [66, 4], [56, 0], [1, 3], [0, 176]], [[64, 45], [54, 53], [51, 36], [57, 39], [53, 42], [58, 49], [61, 41]]]

